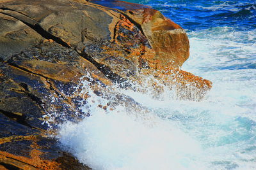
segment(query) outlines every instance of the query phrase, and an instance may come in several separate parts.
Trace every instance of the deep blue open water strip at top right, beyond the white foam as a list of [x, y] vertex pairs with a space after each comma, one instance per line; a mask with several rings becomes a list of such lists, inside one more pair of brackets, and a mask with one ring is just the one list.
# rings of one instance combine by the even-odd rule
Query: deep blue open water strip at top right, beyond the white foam
[[255, 0], [134, 0], [129, 2], [152, 6], [190, 31], [223, 26], [235, 27], [237, 30], [256, 28]]

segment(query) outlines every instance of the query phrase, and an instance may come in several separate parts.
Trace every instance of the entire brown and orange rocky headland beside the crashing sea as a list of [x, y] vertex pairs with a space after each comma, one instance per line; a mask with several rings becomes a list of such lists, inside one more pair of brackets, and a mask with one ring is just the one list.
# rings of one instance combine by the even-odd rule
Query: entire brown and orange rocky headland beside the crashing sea
[[[90, 169], [60, 148], [48, 129], [90, 115], [77, 102], [89, 97], [80, 80], [106, 98], [113, 84], [129, 89], [136, 83], [156, 96], [164, 85], [179, 99], [200, 100], [211, 82], [180, 70], [188, 57], [184, 30], [148, 6], [0, 1], [0, 169]], [[114, 96], [116, 102], [99, 107], [124, 103], [142, 110], [131, 98]]]

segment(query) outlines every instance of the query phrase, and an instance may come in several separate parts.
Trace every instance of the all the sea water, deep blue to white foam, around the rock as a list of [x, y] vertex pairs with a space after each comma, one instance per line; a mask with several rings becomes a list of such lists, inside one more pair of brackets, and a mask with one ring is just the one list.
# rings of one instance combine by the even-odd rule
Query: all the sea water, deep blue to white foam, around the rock
[[93, 169], [256, 169], [255, 1], [133, 2], [186, 29], [182, 69], [212, 89], [200, 102], [116, 89], [152, 112], [140, 120], [124, 106], [106, 114], [97, 105], [108, 101], [92, 95], [83, 107], [90, 117], [61, 125], [61, 145]]

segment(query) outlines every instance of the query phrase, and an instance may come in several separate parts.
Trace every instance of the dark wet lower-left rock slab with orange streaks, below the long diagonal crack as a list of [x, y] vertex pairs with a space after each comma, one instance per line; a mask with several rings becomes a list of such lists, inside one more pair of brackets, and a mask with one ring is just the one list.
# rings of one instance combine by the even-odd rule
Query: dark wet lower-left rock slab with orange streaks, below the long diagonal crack
[[74, 50], [56, 43], [33, 46], [8, 58], [0, 63], [0, 164], [20, 169], [88, 169], [61, 149], [56, 139], [47, 137], [49, 127], [44, 122], [53, 118], [47, 122], [56, 127], [86, 116], [76, 103], [84, 96], [74, 89], [84, 74], [91, 73], [92, 84], [111, 81]]

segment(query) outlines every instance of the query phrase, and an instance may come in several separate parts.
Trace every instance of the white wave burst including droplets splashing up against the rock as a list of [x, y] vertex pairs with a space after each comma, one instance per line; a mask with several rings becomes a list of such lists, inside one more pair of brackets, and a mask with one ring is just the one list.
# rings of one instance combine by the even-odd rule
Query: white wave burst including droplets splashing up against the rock
[[[90, 75], [84, 77], [90, 79]], [[138, 89], [140, 85], [134, 84], [134, 87]], [[153, 105], [148, 107], [147, 104], [143, 106], [144, 103], [140, 101], [143, 97], [143, 101], [150, 101], [150, 104], [164, 103], [164, 99], [173, 101], [172, 96], [156, 99], [152, 96], [154, 89], [151, 88], [136, 92], [118, 89], [115, 86], [109, 87], [105, 94], [98, 96], [90, 81], [84, 78], [81, 78], [78, 89], [82, 89], [81, 96], [87, 96], [86, 100], [79, 101], [83, 103], [81, 110], [84, 115], [90, 113], [90, 116], [84, 117], [78, 123], [66, 121], [60, 126], [58, 138], [67, 151], [73, 153], [84, 164], [93, 169], [204, 167], [204, 162], [198, 161], [202, 152], [200, 143], [186, 132], [180, 131], [176, 122], [155, 114], [158, 104], [156, 108]], [[173, 94], [167, 92], [165, 94]], [[124, 96], [122, 101], [116, 100], [116, 94]], [[129, 100], [129, 96], [134, 97], [135, 101]], [[137, 101], [138, 106], [127, 105]], [[117, 104], [113, 106], [109, 103]], [[180, 142], [183, 144], [180, 145]]]

